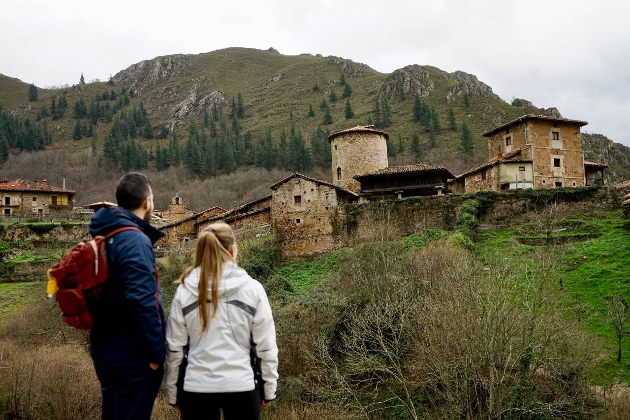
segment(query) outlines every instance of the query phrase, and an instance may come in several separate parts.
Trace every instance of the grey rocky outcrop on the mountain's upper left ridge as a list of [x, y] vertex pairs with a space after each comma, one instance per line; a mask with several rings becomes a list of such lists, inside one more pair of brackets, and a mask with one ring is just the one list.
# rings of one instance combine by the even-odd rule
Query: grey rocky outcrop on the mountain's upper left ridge
[[117, 85], [152, 85], [161, 79], [179, 76], [188, 66], [190, 66], [190, 59], [184, 54], [164, 55], [132, 64], [116, 73], [113, 80]]

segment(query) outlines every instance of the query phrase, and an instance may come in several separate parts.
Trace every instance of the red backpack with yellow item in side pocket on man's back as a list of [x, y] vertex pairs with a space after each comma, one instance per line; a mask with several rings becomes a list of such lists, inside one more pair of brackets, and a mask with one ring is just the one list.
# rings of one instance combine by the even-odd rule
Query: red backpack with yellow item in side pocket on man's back
[[106, 236], [84, 239], [47, 272], [49, 297], [55, 295], [62, 310], [62, 318], [71, 327], [86, 330], [94, 326], [88, 301], [101, 298], [103, 283], [110, 276], [105, 242], [125, 230], [141, 232], [138, 228], [126, 226]]

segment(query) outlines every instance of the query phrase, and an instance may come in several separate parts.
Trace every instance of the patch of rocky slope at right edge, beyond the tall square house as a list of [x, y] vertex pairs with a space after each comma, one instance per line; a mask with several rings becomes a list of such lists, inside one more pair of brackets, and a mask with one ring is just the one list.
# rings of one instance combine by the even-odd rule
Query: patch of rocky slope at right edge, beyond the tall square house
[[604, 162], [609, 165], [604, 177], [609, 185], [630, 179], [630, 148], [614, 143], [602, 134], [582, 133], [584, 160]]

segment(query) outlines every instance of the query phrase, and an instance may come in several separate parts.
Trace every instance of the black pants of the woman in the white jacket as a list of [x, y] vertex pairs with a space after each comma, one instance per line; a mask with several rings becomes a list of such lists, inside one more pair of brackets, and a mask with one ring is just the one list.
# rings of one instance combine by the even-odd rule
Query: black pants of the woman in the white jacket
[[245, 392], [187, 392], [181, 394], [181, 420], [219, 420], [223, 411], [225, 420], [260, 419], [258, 390]]

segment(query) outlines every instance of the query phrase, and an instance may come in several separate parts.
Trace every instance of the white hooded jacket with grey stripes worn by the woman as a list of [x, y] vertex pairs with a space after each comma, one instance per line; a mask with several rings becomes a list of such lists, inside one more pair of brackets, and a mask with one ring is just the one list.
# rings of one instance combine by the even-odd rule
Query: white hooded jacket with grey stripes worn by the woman
[[[272, 310], [262, 284], [232, 262], [223, 264], [219, 306], [214, 318], [208, 303], [208, 325], [201, 335], [197, 306], [200, 268], [178, 286], [168, 318], [166, 341], [166, 394], [176, 403], [178, 372], [183, 347], [189, 342], [183, 388], [188, 392], [244, 392], [255, 389], [249, 351], [251, 339], [261, 360], [265, 399], [273, 400], [278, 380], [278, 347]], [[208, 298], [210, 299], [210, 281]], [[251, 339], [250, 339], [251, 337]]]

